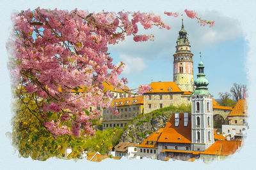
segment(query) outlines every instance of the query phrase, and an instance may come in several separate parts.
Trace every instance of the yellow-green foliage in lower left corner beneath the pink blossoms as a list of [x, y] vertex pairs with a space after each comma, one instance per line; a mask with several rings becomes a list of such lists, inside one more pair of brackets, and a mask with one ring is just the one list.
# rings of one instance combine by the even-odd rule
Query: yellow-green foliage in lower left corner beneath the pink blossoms
[[[12, 144], [19, 151], [22, 157], [31, 157], [36, 160], [47, 160], [50, 157], [63, 157], [66, 146], [74, 148], [73, 157], [77, 157], [83, 150], [83, 138], [74, 138], [68, 134], [52, 136], [45, 131], [44, 125], [40, 121], [40, 112], [31, 100], [29, 94], [22, 96], [22, 101], [17, 100], [13, 103], [12, 118]], [[40, 103], [39, 103], [40, 104]], [[47, 116], [51, 120], [57, 120], [60, 116], [57, 113], [48, 112]]]

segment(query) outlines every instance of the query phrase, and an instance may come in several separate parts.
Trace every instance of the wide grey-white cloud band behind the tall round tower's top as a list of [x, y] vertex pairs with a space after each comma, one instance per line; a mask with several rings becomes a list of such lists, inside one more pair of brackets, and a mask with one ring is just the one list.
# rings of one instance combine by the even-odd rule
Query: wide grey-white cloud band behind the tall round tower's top
[[[234, 40], [243, 36], [241, 24], [236, 18], [225, 17], [217, 11], [196, 11], [199, 17], [205, 20], [214, 20], [214, 27], [209, 25], [200, 26], [196, 23], [195, 19], [188, 17], [184, 18], [184, 27], [189, 34], [189, 41], [191, 45], [191, 52], [198, 53], [205, 48], [211, 48], [218, 43]], [[180, 14], [184, 13], [180, 11]], [[109, 46], [109, 52], [115, 51], [118, 53], [124, 53], [130, 56], [140, 56], [143, 59], [154, 60], [161, 59], [166, 60], [172, 58], [172, 54], [175, 53], [175, 42], [178, 36], [178, 32], [181, 28], [181, 17], [174, 18], [166, 15], [161, 15], [163, 21], [171, 26], [171, 29], [153, 29], [143, 30], [143, 27], [139, 25], [139, 34], [154, 34], [155, 41], [147, 42], [134, 42], [132, 36], [127, 37], [125, 41], [120, 42], [118, 45]]]

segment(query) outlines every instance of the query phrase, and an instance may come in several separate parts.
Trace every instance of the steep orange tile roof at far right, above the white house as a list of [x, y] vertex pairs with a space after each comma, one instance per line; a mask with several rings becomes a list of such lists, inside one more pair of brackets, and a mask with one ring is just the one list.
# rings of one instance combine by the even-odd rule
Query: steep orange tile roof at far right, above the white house
[[246, 110], [248, 109], [246, 100], [239, 99], [236, 103], [236, 106], [233, 108], [228, 117], [237, 117], [237, 116], [247, 116]]

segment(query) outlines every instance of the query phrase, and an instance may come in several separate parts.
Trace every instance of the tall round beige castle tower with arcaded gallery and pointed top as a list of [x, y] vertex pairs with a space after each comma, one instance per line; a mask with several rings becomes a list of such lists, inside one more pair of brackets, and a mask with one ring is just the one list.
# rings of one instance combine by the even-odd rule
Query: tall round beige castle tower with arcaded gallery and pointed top
[[173, 54], [173, 81], [184, 92], [193, 92], [193, 53], [190, 52], [187, 31], [183, 19]]

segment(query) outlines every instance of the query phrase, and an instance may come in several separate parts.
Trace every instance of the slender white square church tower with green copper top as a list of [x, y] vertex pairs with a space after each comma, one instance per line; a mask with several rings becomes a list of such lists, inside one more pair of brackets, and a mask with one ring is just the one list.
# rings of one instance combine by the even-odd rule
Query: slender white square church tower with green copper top
[[207, 89], [209, 81], [205, 78], [201, 59], [195, 85], [196, 90], [191, 95], [191, 148], [194, 151], [204, 151], [214, 143], [214, 130], [212, 96]]

